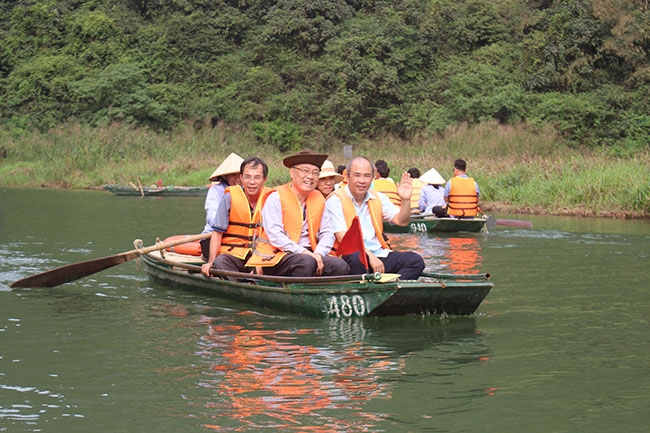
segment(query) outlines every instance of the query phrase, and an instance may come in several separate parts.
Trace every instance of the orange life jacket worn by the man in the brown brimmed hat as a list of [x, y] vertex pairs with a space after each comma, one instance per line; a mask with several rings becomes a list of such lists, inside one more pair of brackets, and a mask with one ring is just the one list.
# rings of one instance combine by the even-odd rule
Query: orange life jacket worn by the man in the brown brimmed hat
[[[302, 234], [302, 225], [305, 221], [303, 218], [306, 217], [307, 229], [309, 231], [309, 244], [312, 251], [314, 251], [318, 245], [316, 236], [320, 231], [320, 222], [323, 218], [323, 212], [325, 212], [325, 199], [319, 191], [311, 191], [307, 196], [305, 216], [303, 217], [300, 201], [298, 201], [298, 197], [296, 197], [290, 185], [290, 183], [287, 183], [276, 189], [280, 195], [284, 231], [287, 233], [289, 239], [297, 243]], [[257, 240], [253, 255], [246, 263], [246, 266], [275, 266], [285, 255], [286, 253], [284, 251], [269, 243], [266, 231], [262, 229], [262, 234]]]

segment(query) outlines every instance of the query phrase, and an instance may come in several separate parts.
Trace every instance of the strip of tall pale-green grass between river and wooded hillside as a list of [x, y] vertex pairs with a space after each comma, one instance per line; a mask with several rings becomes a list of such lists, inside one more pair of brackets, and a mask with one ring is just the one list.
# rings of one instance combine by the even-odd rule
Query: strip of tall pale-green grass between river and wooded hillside
[[[352, 144], [354, 155], [388, 161], [394, 179], [413, 166], [422, 172], [435, 167], [448, 178], [453, 160], [464, 158], [486, 211], [650, 217], [650, 151], [622, 158], [560, 143], [550, 130], [489, 123], [408, 141], [321, 139], [305, 147], [329, 153], [338, 165], [346, 162], [343, 146]], [[6, 151], [0, 157], [0, 185], [100, 188], [138, 178], [145, 185], [158, 178], [167, 185], [201, 185], [231, 151], [264, 159], [269, 184], [288, 180], [285, 154], [260, 144], [249, 131], [226, 127], [187, 127], [170, 134], [124, 125], [68, 125], [47, 134], [0, 131], [0, 149]]]

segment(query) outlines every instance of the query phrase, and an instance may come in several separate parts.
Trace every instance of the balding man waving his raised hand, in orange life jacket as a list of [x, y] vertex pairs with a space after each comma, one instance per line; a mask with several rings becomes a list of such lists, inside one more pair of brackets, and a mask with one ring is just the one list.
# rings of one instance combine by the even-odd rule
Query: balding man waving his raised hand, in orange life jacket
[[343, 239], [355, 216], [361, 226], [364, 251], [344, 255], [343, 259], [350, 265], [352, 275], [368, 272], [360, 258], [360, 254], [365, 254], [373, 272], [398, 273], [403, 280], [416, 280], [424, 270], [422, 257], [413, 251], [392, 251], [383, 237], [384, 220], [400, 226], [411, 220], [411, 176], [402, 174], [397, 187], [401, 204], [397, 207], [384, 194], [370, 189], [374, 168], [366, 157], [352, 158], [347, 166], [348, 185], [327, 199], [337, 242]]

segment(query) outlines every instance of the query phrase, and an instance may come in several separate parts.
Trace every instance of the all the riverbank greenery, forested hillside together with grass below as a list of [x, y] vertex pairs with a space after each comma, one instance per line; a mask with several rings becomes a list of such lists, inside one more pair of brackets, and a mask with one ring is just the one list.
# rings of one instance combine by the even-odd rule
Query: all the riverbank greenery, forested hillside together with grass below
[[648, 216], [649, 27], [638, 0], [0, 2], [0, 184], [352, 145], [464, 157], [500, 209]]

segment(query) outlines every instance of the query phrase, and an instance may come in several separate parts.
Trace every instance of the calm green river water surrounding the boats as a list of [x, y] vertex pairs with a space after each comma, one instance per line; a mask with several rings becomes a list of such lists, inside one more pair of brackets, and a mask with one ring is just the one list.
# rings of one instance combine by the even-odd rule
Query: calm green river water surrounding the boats
[[0, 431], [645, 432], [650, 223], [394, 235], [480, 270], [471, 317], [316, 320], [152, 284], [136, 262], [19, 278], [200, 232], [200, 198], [0, 188]]

